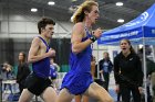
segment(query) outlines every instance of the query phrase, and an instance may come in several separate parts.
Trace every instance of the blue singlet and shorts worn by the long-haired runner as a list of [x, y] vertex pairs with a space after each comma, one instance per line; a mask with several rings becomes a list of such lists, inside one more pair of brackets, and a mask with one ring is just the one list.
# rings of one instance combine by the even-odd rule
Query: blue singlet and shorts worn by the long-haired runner
[[[85, 29], [86, 37], [82, 38], [82, 42], [86, 41], [91, 34]], [[72, 45], [71, 45], [72, 48]], [[71, 50], [70, 54], [70, 67], [71, 70], [65, 75], [62, 87], [66, 88], [72, 94], [82, 94], [86, 91], [90, 84], [93, 82], [91, 75], [91, 45], [79, 54], [74, 54]]]

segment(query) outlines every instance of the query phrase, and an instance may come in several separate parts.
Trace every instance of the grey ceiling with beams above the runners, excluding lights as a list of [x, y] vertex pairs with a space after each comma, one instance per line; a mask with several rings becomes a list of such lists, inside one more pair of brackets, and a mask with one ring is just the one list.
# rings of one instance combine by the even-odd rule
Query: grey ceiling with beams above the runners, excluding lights
[[[0, 0], [0, 8], [9, 9], [31, 9], [38, 8], [40, 14], [48, 15], [56, 19], [58, 21], [70, 21], [72, 13], [69, 8], [79, 5], [85, 0], [53, 0], [55, 5], [48, 5], [50, 0]], [[100, 22], [97, 26], [104, 26], [104, 29], [113, 29], [121, 23], [117, 23], [117, 19], [124, 19], [128, 22], [148, 9], [155, 0], [96, 0], [100, 4]], [[123, 7], [116, 7], [115, 2], [124, 2]], [[21, 13], [25, 13], [21, 12]]]

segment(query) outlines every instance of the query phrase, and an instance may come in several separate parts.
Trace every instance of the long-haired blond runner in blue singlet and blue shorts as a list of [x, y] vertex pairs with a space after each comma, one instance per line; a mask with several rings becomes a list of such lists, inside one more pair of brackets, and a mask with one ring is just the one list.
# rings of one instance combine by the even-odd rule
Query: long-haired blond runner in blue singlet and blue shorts
[[93, 82], [91, 75], [91, 44], [102, 34], [101, 29], [92, 34], [92, 24], [99, 19], [99, 4], [85, 1], [73, 15], [75, 24], [71, 36], [71, 70], [65, 75], [56, 102], [71, 102], [74, 95], [84, 94], [100, 102], [113, 102], [104, 88]]

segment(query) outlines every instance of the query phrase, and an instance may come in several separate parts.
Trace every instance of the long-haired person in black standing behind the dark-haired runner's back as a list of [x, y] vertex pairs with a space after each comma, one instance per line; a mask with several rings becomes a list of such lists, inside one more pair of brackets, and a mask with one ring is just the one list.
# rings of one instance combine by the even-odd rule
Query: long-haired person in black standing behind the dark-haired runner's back
[[19, 65], [18, 65], [18, 72], [17, 72], [17, 82], [19, 83], [20, 94], [24, 89], [24, 82], [28, 75], [31, 72], [29, 65], [27, 63], [27, 57], [24, 52], [19, 53]]

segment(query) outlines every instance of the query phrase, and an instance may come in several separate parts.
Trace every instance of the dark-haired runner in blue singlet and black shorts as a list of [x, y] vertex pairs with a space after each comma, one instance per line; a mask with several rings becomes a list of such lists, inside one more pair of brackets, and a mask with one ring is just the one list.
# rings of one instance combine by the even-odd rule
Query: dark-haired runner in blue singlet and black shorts
[[55, 102], [56, 92], [51, 87], [49, 79], [50, 57], [55, 56], [55, 50], [49, 47], [49, 42], [53, 35], [54, 21], [42, 19], [38, 23], [39, 34], [33, 38], [28, 61], [32, 63], [32, 73], [25, 79], [25, 89], [23, 89], [19, 102], [30, 102], [33, 95], [40, 95], [44, 102]]

